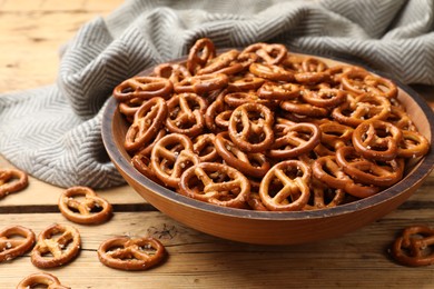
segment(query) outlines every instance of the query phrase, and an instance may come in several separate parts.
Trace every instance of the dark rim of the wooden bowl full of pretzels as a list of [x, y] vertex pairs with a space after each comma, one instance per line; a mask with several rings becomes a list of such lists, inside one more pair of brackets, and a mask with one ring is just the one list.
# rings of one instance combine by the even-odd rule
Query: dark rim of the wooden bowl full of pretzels
[[[226, 49], [225, 49], [226, 50]], [[213, 212], [215, 215], [226, 216], [226, 217], [233, 217], [233, 218], [240, 218], [240, 219], [249, 219], [249, 220], [272, 220], [272, 221], [288, 221], [288, 220], [303, 220], [303, 219], [319, 219], [324, 217], [337, 217], [345, 213], [351, 213], [354, 211], [361, 211], [364, 209], [368, 209], [369, 207], [377, 206], [382, 202], [387, 201], [388, 199], [393, 197], [397, 197], [406, 191], [407, 188], [412, 186], [416, 186], [420, 182], [422, 182], [427, 175], [431, 173], [431, 171], [434, 168], [434, 111], [433, 109], [427, 104], [426, 100], [422, 98], [415, 90], [413, 90], [407, 84], [404, 84], [402, 81], [397, 80], [394, 77], [387, 76], [385, 72], [381, 72], [377, 70], [374, 70], [372, 68], [368, 68], [365, 64], [361, 64], [356, 61], [351, 61], [348, 59], [338, 58], [334, 56], [322, 56], [317, 53], [303, 53], [298, 51], [294, 51], [294, 53], [298, 54], [305, 54], [305, 56], [313, 56], [318, 58], [325, 58], [333, 61], [338, 61], [347, 64], [355, 64], [358, 67], [363, 67], [366, 70], [378, 74], [381, 77], [385, 77], [391, 79], [396, 83], [396, 86], [402, 89], [404, 92], [406, 92], [411, 98], [414, 99], [414, 101], [417, 103], [417, 107], [424, 112], [424, 116], [427, 119], [427, 122], [430, 124], [430, 133], [431, 133], [431, 140], [430, 140], [430, 151], [427, 155], [425, 155], [413, 168], [413, 171], [405, 176], [402, 180], [400, 180], [397, 183], [393, 185], [392, 187], [384, 189], [379, 191], [378, 193], [359, 199], [349, 203], [339, 205], [332, 208], [324, 208], [318, 210], [306, 210], [306, 211], [255, 211], [255, 210], [247, 210], [247, 209], [235, 209], [235, 208], [227, 208], [221, 207], [213, 203], [207, 203], [204, 201], [199, 201], [186, 196], [183, 196], [178, 192], [175, 192], [170, 189], [167, 189], [144, 175], [141, 175], [139, 171], [137, 171], [134, 166], [128, 162], [127, 159], [124, 157], [120, 157], [121, 153], [118, 151], [117, 146], [114, 141], [114, 133], [112, 133], [112, 120], [115, 117], [115, 112], [117, 109], [117, 100], [110, 94], [108, 101], [106, 101], [106, 108], [102, 112], [102, 124], [101, 124], [101, 136], [102, 136], [102, 142], [106, 148], [107, 153], [109, 155], [109, 158], [112, 162], [116, 162], [116, 166], [119, 166], [119, 168], [127, 173], [130, 178], [132, 178], [136, 182], [144, 185], [149, 191], [152, 193], [159, 195], [159, 197], [170, 199], [171, 201], [185, 206], [190, 207], [197, 210], [201, 210], [204, 212]], [[167, 62], [179, 62], [184, 58], [175, 59]], [[151, 68], [142, 70], [140, 74], [145, 74], [146, 72], [150, 72]], [[119, 156], [120, 155], [120, 156]], [[116, 161], [114, 161], [116, 160]], [[145, 197], [144, 197], [145, 198]], [[145, 198], [146, 199], [146, 198]], [[150, 203], [151, 206], [156, 207], [155, 205]], [[158, 209], [158, 208], [157, 208]]]

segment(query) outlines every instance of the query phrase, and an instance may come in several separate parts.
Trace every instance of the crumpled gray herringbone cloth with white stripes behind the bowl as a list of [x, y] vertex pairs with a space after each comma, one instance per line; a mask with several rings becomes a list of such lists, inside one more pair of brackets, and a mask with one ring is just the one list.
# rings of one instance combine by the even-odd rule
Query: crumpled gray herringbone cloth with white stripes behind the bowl
[[282, 42], [434, 84], [433, 9], [433, 0], [127, 1], [66, 44], [56, 83], [0, 96], [0, 153], [60, 187], [125, 183], [101, 140], [106, 100], [122, 80], [203, 37], [218, 48]]

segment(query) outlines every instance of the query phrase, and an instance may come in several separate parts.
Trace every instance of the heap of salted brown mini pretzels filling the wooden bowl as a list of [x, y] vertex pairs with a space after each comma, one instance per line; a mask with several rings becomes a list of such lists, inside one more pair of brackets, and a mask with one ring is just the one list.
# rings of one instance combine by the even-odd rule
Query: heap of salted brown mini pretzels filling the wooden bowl
[[295, 211], [373, 196], [427, 153], [397, 92], [282, 44], [217, 52], [203, 38], [185, 62], [127, 79], [114, 98], [131, 165], [149, 179], [219, 206]]

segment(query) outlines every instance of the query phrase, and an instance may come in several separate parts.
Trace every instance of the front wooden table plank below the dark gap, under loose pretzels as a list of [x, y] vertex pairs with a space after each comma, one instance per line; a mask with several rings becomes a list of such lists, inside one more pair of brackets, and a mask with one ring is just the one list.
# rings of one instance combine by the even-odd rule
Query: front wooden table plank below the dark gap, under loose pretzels
[[[75, 225], [82, 237], [81, 253], [73, 262], [46, 271], [72, 288], [428, 288], [434, 281], [433, 266], [403, 267], [387, 253], [396, 233], [413, 216], [420, 218], [415, 221], [432, 220], [416, 210], [396, 210], [336, 239], [273, 247], [198, 233], [159, 212], [119, 212], [101, 226]], [[59, 213], [10, 215], [6, 219], [0, 219], [0, 228], [20, 223], [36, 233], [52, 222], [67, 222]], [[96, 250], [105, 239], [118, 235], [157, 237], [169, 258], [145, 272], [107, 268], [99, 262]], [[0, 288], [14, 288], [24, 276], [40, 271], [28, 255], [0, 267], [4, 268], [0, 270]]]

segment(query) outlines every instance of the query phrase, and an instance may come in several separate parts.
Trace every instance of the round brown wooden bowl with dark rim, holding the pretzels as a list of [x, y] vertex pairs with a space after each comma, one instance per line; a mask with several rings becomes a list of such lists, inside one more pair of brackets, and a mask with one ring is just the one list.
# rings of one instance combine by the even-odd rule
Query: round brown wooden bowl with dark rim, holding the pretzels
[[[337, 60], [320, 59], [329, 64], [342, 63]], [[223, 208], [166, 189], [144, 177], [130, 165], [130, 156], [122, 144], [128, 124], [117, 110], [117, 101], [112, 97], [103, 112], [102, 140], [111, 161], [125, 180], [155, 208], [190, 228], [247, 243], [294, 245], [319, 241], [355, 231], [389, 213], [420, 188], [433, 169], [433, 110], [416, 92], [396, 80], [395, 82], [400, 87], [400, 101], [406, 107], [420, 132], [432, 143], [430, 152], [413, 163], [406, 170], [405, 177], [396, 185], [373, 197], [335, 208], [316, 211], [259, 212]]]

